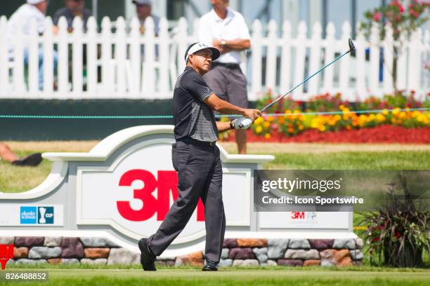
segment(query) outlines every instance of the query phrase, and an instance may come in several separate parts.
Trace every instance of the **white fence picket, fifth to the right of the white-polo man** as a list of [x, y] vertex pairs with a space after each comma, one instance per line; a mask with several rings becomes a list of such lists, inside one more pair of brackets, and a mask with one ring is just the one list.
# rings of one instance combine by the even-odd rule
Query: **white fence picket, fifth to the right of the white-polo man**
[[[320, 22], [315, 22], [312, 31], [311, 41], [311, 60], [309, 60], [309, 74], [314, 73], [320, 68], [321, 62], [321, 33], [323, 28]], [[308, 81], [308, 94], [313, 96], [318, 93], [318, 86], [320, 86], [321, 74], [315, 76]]]

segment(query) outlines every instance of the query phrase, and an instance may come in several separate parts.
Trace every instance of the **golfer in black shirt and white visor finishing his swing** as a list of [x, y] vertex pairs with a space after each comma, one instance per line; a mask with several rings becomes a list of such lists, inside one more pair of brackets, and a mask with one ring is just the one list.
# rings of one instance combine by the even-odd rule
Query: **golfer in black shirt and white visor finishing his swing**
[[[216, 140], [219, 132], [247, 129], [261, 115], [217, 97], [202, 76], [220, 56], [218, 49], [193, 43], [185, 52], [187, 66], [174, 88], [174, 135], [172, 161], [178, 172], [178, 199], [155, 234], [138, 242], [145, 271], [155, 271], [155, 257], [166, 250], [185, 228], [197, 201], [202, 198], [206, 224], [206, 265], [203, 271], [218, 270], [223, 247], [226, 216], [222, 198], [223, 171]], [[214, 112], [239, 114], [230, 122], [215, 121]], [[252, 121], [245, 120], [252, 118]]]

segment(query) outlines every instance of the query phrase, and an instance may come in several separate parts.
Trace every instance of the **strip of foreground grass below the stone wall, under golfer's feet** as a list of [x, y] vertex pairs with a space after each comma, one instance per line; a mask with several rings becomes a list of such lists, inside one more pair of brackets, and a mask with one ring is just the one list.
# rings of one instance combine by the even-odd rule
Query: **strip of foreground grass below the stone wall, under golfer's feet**
[[[20, 269], [19, 271], [23, 271]], [[34, 271], [32, 269], [31, 271]], [[49, 269], [48, 283], [0, 282], [0, 285], [428, 285], [430, 271], [336, 271], [317, 269]]]

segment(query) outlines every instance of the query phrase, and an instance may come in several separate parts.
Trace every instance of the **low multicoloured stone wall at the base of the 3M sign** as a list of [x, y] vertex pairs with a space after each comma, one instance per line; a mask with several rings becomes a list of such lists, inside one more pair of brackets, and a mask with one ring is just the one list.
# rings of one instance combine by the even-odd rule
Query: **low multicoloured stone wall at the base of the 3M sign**
[[[8, 264], [140, 264], [140, 254], [105, 238], [0, 237], [15, 245]], [[253, 239], [224, 240], [220, 266], [353, 266], [362, 265], [363, 240]], [[138, 250], [136, 245], [136, 250]], [[203, 252], [158, 259], [158, 265], [203, 266]]]

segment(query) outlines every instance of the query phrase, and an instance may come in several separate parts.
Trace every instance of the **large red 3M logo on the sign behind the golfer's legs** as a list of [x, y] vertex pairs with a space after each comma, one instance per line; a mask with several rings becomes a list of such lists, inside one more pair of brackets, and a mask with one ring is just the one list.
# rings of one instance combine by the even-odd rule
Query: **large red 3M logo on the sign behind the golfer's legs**
[[[176, 171], [158, 171], [158, 180], [147, 170], [129, 170], [119, 179], [119, 186], [131, 186], [134, 181], [143, 182], [142, 189], [133, 191], [133, 198], [141, 200], [141, 210], [134, 210], [129, 201], [117, 201], [117, 209], [124, 219], [131, 222], [143, 222], [157, 213], [157, 221], [163, 221], [170, 208], [170, 194], [178, 198], [178, 175]], [[157, 189], [157, 198], [152, 193]], [[199, 199], [197, 203], [197, 222], [204, 222], [204, 205]]]

